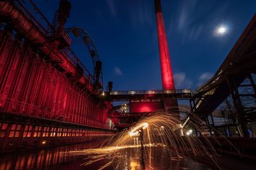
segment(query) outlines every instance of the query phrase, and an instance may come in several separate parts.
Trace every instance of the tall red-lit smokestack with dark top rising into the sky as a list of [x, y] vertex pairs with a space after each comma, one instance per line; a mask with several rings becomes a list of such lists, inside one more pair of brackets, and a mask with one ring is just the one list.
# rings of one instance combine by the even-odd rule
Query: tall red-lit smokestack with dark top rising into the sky
[[172, 65], [170, 61], [170, 54], [168, 49], [168, 43], [166, 39], [166, 33], [164, 28], [164, 18], [161, 9], [161, 1], [155, 1], [156, 10], [156, 23], [157, 23], [157, 36], [160, 53], [161, 75], [163, 90], [175, 89], [172, 73]]

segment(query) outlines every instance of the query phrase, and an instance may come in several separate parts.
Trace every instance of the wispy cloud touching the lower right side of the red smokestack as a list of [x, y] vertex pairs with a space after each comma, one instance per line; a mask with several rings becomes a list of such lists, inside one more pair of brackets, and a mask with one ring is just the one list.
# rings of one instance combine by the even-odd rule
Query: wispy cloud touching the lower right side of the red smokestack
[[190, 88], [193, 83], [184, 72], [174, 73], [173, 78], [177, 89]]

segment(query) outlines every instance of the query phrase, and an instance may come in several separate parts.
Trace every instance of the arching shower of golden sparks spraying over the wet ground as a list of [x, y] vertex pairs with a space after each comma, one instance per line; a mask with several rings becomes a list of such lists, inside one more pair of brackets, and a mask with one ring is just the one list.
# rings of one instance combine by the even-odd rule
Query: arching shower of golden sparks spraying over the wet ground
[[[179, 110], [182, 111], [182, 108], [179, 108]], [[151, 117], [141, 118], [141, 120], [132, 127], [130, 131], [125, 130], [116, 133], [115, 136], [111, 136], [111, 138], [106, 139], [99, 148], [61, 154], [87, 155], [87, 161], [84, 164], [81, 164], [81, 166], [88, 166], [98, 162], [99, 160], [107, 160], [108, 163], [99, 169], [104, 169], [108, 166], [113, 166], [114, 169], [117, 169], [126, 157], [125, 149], [136, 149], [141, 147], [141, 145], [138, 145], [138, 142], [134, 143], [134, 139], [138, 141], [138, 138], [136, 138], [138, 129], [143, 128], [147, 131], [147, 133], [144, 134], [143, 146], [145, 146], [145, 148], [165, 147], [164, 150], [166, 150], [170, 155], [170, 160], [186, 160], [185, 155], [194, 155], [195, 157], [197, 155], [201, 155], [210, 157], [211, 160], [216, 163], [217, 153], [211, 145], [209, 138], [207, 138], [207, 136], [202, 136], [200, 139], [195, 133], [205, 132], [205, 129], [202, 129], [202, 125], [206, 125], [205, 122], [189, 111], [188, 115], [190, 121], [188, 124], [184, 125], [184, 127], [180, 127], [180, 124], [184, 124], [184, 122], [180, 120], [179, 114], [169, 114], [161, 111], [153, 114]], [[193, 131], [191, 131], [189, 136], [182, 136], [180, 128], [182, 128], [182, 131], [189, 131], [190, 129], [193, 129]], [[204, 143], [202, 143], [202, 138], [204, 139]], [[145, 159], [149, 160], [147, 161], [149, 162], [148, 167], [152, 166], [150, 150], [151, 149], [149, 149], [149, 152], [147, 149], [141, 151], [141, 153], [145, 153]], [[132, 166], [134, 166], [134, 164], [132, 164]]]

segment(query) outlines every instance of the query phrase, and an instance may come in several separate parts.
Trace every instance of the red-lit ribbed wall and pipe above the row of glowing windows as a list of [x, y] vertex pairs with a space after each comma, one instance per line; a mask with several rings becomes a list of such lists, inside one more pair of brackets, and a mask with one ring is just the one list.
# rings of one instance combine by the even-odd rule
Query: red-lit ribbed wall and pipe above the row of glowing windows
[[109, 129], [111, 103], [95, 96], [92, 83], [58, 50], [60, 42], [48, 42], [9, 1], [0, 6], [8, 17], [0, 28], [0, 110]]

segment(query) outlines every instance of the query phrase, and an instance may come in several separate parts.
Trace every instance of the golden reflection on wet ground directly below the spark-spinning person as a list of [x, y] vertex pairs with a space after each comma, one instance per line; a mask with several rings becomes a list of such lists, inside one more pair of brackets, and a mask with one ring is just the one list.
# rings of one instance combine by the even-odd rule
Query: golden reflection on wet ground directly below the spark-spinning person
[[[127, 148], [118, 169], [211, 169], [195, 160], [175, 157], [163, 147]], [[147, 154], [146, 154], [147, 153]]]

